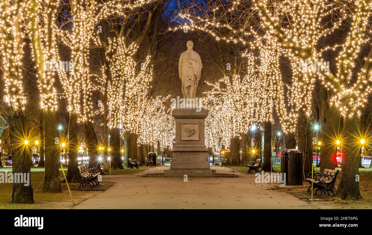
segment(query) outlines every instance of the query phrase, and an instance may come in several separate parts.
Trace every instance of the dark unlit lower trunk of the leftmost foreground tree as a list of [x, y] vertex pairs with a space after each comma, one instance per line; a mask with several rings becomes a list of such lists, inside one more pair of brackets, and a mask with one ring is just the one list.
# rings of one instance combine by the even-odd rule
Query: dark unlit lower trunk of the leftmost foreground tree
[[[13, 110], [12, 107], [10, 109]], [[34, 203], [33, 189], [31, 185], [31, 165], [29, 156], [31, 148], [28, 144], [24, 144], [24, 136], [27, 135], [25, 117], [21, 110], [17, 110], [9, 115], [9, 138], [12, 146], [13, 155], [13, 174], [22, 175], [23, 178], [28, 177], [29, 185], [25, 186], [25, 182], [14, 182], [10, 202], [12, 203]]]

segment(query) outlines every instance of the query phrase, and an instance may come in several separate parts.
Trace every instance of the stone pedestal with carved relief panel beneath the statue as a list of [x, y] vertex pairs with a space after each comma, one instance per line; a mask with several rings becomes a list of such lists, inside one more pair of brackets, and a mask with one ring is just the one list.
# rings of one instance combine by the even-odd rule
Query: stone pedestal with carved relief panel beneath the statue
[[176, 119], [176, 143], [172, 149], [170, 170], [164, 170], [165, 176], [215, 176], [216, 170], [209, 168], [205, 146], [208, 110], [173, 109], [172, 116]]

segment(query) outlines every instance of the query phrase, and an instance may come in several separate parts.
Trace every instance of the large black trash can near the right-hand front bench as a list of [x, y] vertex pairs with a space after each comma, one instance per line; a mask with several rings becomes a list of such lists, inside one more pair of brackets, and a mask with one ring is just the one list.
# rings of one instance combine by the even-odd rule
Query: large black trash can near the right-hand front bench
[[302, 152], [297, 149], [285, 149], [280, 154], [280, 173], [285, 173], [285, 185], [302, 185]]

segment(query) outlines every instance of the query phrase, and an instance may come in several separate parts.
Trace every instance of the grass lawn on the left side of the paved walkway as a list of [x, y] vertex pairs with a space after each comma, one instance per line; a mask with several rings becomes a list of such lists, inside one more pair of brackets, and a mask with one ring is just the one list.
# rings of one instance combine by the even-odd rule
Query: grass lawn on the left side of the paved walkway
[[[67, 167], [66, 167], [67, 168]], [[65, 174], [67, 169], [64, 168]], [[140, 167], [140, 169], [123, 169], [111, 170], [112, 175], [119, 174], [135, 174], [148, 169], [148, 167]], [[8, 171], [12, 172], [12, 168], [0, 168], [0, 173]], [[108, 175], [108, 173], [106, 173]], [[62, 169], [60, 168], [61, 180], [64, 179]], [[0, 209], [69, 209], [73, 207], [70, 193], [68, 193], [66, 183], [61, 183], [62, 193], [42, 193], [44, 186], [44, 167], [31, 168], [31, 185], [33, 188], [34, 204], [14, 204], [10, 203], [10, 195], [12, 194], [12, 183], [0, 184]], [[110, 184], [102, 182], [101, 184]], [[71, 189], [79, 187], [78, 183], [69, 183]], [[37, 188], [37, 190], [36, 190]], [[79, 191], [71, 190], [75, 204], [81, 203], [90, 197], [100, 193], [100, 191]]]

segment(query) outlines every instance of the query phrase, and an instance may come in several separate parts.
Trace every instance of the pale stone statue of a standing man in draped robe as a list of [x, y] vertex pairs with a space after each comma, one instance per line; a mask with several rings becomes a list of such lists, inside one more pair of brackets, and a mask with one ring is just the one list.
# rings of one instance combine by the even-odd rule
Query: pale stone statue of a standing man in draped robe
[[180, 55], [178, 71], [182, 80], [183, 98], [195, 99], [203, 65], [198, 52], [192, 50], [194, 43], [188, 41], [186, 46], [187, 50]]

